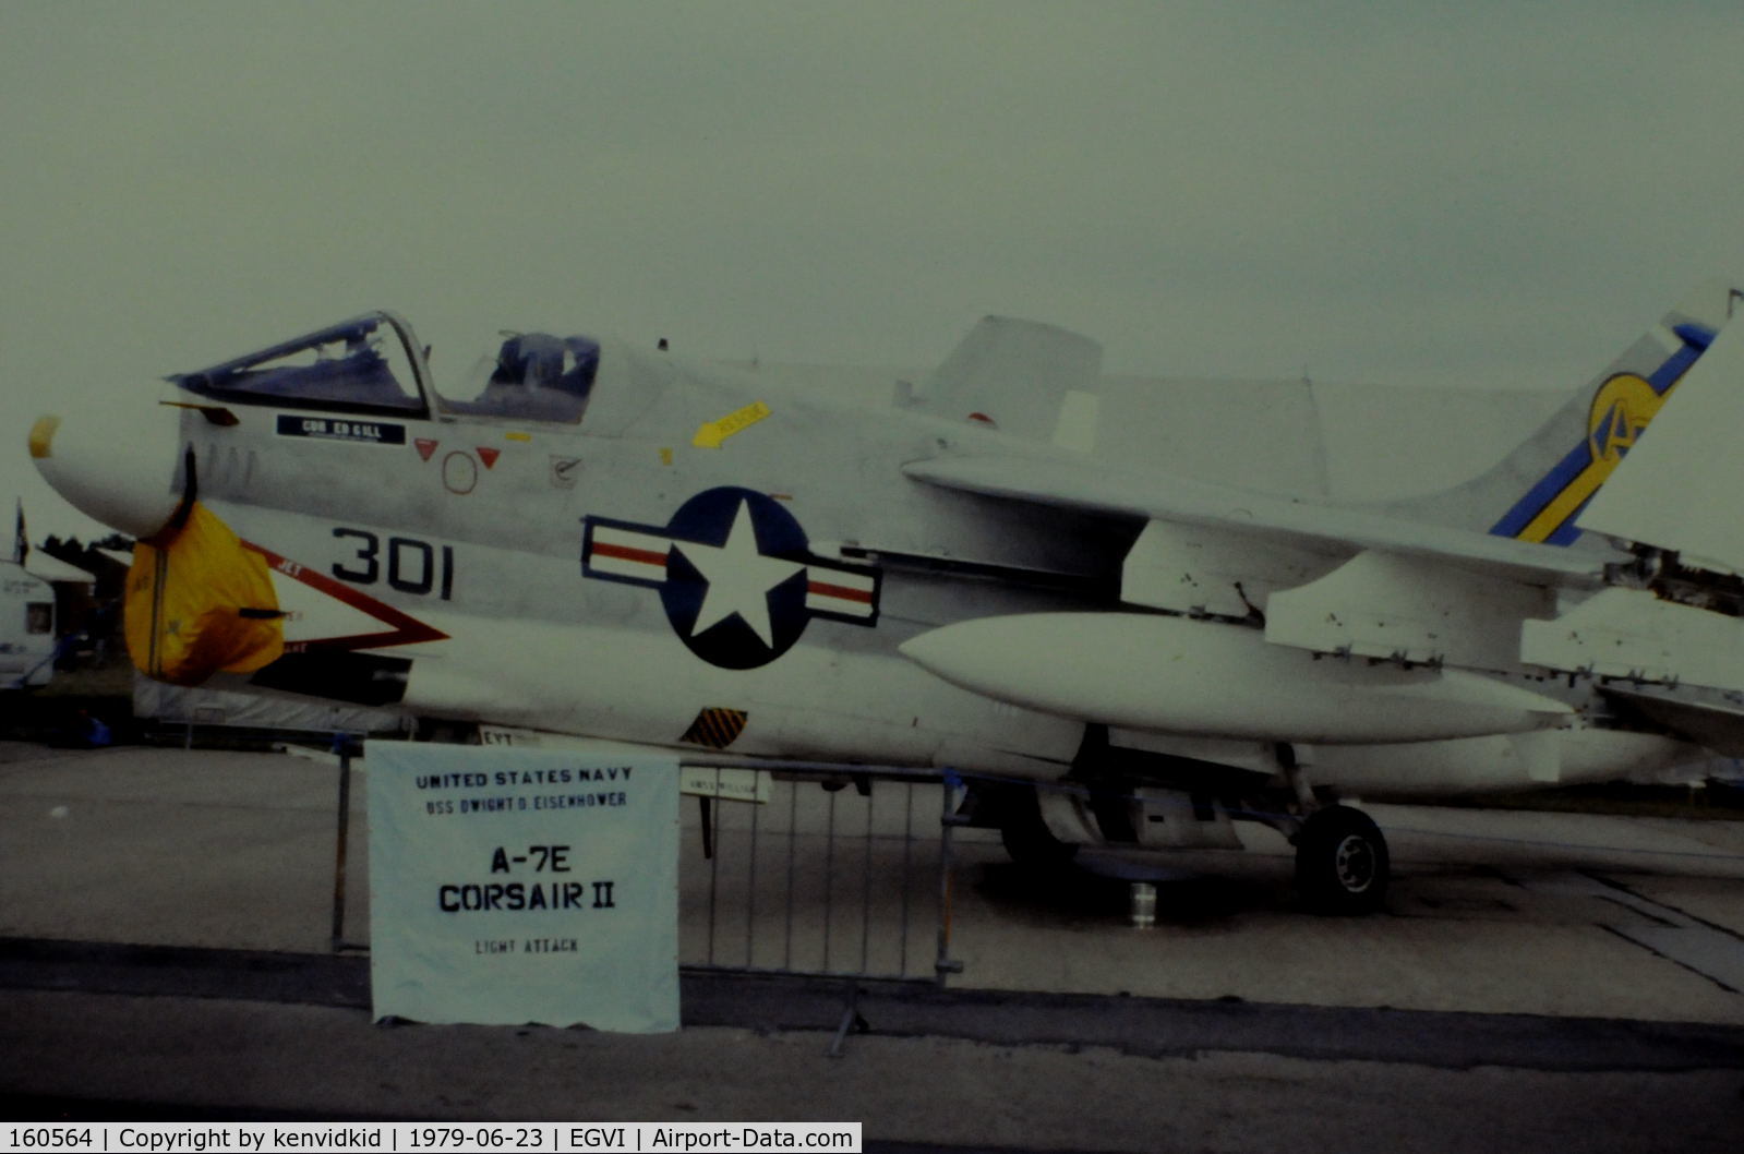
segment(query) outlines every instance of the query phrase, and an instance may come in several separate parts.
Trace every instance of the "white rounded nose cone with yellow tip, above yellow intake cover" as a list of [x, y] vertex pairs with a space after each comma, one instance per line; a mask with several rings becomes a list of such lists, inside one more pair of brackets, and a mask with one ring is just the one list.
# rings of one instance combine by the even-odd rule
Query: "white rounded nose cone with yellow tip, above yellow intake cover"
[[30, 457], [75, 509], [133, 537], [150, 537], [181, 504], [180, 443], [178, 410], [117, 403], [37, 418]]

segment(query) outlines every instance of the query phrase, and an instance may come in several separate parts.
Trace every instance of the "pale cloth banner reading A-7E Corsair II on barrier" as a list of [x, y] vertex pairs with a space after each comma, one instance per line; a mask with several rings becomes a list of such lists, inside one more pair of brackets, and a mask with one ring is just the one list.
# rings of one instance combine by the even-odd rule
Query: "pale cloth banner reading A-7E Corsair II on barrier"
[[375, 1016], [678, 1028], [678, 762], [370, 743]]

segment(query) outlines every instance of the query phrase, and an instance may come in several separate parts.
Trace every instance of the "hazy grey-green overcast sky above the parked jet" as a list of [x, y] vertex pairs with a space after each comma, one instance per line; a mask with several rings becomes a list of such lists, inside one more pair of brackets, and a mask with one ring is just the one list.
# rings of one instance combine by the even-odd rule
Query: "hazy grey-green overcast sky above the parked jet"
[[1744, 277], [1744, 10], [1564, 3], [0, 5], [23, 441], [371, 307], [931, 364], [1573, 387]]

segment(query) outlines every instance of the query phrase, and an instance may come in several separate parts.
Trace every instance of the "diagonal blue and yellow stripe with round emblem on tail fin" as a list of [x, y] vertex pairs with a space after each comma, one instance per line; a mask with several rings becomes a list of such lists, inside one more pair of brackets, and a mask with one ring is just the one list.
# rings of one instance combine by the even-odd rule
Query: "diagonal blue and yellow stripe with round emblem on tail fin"
[[1678, 324], [1672, 331], [1683, 345], [1650, 375], [1613, 373], [1604, 378], [1587, 410], [1587, 436], [1502, 514], [1491, 533], [1549, 546], [1566, 546], [1580, 537], [1575, 518], [1714, 340], [1714, 333], [1700, 324]]

